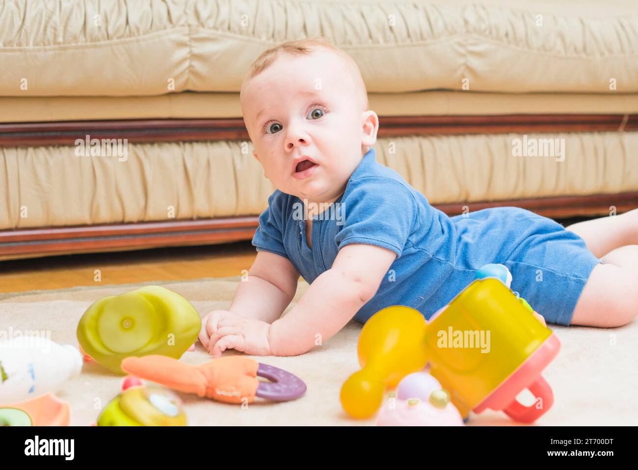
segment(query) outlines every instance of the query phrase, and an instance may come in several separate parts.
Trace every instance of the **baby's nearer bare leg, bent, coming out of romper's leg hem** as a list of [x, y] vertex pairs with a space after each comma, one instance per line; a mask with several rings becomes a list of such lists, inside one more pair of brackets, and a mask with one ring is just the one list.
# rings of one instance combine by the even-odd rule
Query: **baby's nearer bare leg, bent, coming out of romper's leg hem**
[[573, 325], [610, 328], [632, 321], [638, 305], [638, 245], [612, 250], [591, 271], [576, 303]]

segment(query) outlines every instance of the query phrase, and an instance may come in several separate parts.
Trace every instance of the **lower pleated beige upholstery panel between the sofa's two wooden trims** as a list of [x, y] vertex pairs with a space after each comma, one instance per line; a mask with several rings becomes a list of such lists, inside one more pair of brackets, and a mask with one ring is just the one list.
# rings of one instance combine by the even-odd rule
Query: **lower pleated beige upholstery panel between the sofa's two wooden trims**
[[[528, 135], [565, 139], [562, 162], [512, 156], [522, 137], [399, 137], [375, 149], [431, 204], [638, 190], [637, 132]], [[274, 190], [249, 142], [129, 144], [125, 162], [73, 146], [0, 148], [0, 187], [0, 229], [259, 215]]]

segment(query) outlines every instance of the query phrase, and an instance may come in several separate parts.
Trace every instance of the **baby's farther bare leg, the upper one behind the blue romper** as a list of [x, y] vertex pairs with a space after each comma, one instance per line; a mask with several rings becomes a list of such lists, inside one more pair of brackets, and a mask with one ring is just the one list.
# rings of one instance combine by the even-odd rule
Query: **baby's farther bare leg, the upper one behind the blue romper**
[[569, 230], [581, 237], [597, 258], [602, 258], [619, 246], [638, 243], [638, 209], [619, 215], [595, 218], [568, 225]]

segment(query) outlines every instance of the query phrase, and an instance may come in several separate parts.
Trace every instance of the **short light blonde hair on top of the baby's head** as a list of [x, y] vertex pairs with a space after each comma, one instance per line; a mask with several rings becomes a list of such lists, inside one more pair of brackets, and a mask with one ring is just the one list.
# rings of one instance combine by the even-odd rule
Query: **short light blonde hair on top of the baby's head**
[[316, 36], [315, 38], [299, 39], [294, 41], [287, 41], [278, 44], [271, 49], [264, 50], [259, 57], [255, 59], [255, 62], [251, 64], [244, 82], [254, 79], [257, 75], [269, 68], [278, 59], [281, 54], [290, 54], [292, 56], [311, 56], [316, 49], [323, 48], [329, 52], [336, 54], [346, 64], [346, 69], [352, 75], [355, 86], [359, 89], [360, 102], [363, 107], [362, 111], [369, 109], [369, 103], [367, 101], [366, 84], [361, 76], [361, 71], [357, 63], [346, 52], [339, 49], [335, 45], [330, 44], [323, 36]]

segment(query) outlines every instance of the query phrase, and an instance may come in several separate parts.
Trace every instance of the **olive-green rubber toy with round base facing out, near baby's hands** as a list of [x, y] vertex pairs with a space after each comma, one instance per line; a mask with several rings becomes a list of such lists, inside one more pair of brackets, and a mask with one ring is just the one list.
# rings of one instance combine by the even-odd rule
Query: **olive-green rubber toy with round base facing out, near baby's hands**
[[197, 340], [197, 310], [176, 292], [149, 285], [99, 299], [78, 324], [82, 351], [118, 374], [128, 356], [161, 354], [179, 359]]

